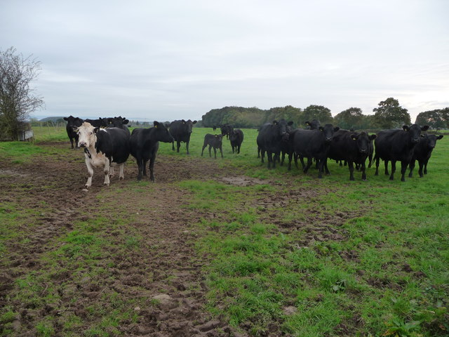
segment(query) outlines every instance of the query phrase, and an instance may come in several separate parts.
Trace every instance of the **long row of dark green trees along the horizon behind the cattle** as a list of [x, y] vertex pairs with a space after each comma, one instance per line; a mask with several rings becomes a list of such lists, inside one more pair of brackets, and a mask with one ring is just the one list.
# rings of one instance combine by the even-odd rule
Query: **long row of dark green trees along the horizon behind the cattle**
[[[304, 126], [306, 121], [317, 119], [321, 124], [331, 123], [348, 130], [401, 128], [405, 124], [412, 124], [408, 110], [401, 107], [395, 98], [381, 101], [373, 112], [374, 114], [363, 114], [359, 107], [349, 107], [333, 117], [330, 109], [322, 105], [309, 105], [304, 109], [287, 105], [269, 110], [257, 107], [222, 107], [204, 114], [201, 125], [213, 127], [232, 124], [236, 128], [259, 128], [265, 123], [282, 118], [295, 122], [299, 127]], [[421, 112], [415, 123], [428, 125], [436, 130], [449, 128], [449, 107]]]

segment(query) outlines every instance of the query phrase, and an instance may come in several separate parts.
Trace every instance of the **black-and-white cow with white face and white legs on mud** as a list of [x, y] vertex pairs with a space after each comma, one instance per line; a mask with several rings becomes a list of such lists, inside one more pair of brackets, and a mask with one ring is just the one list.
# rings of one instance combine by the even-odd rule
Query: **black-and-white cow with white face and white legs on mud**
[[109, 169], [120, 167], [119, 179], [124, 179], [123, 168], [129, 157], [129, 136], [121, 128], [95, 128], [84, 122], [76, 131], [79, 146], [84, 147], [86, 166], [89, 173], [86, 188], [92, 185], [93, 169], [102, 167], [105, 173], [105, 185], [109, 186]]

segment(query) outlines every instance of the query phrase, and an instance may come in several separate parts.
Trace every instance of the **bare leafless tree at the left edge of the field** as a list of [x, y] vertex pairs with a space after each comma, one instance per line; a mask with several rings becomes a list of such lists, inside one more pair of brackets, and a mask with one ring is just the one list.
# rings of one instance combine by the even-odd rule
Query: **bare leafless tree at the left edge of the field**
[[39, 70], [41, 62], [32, 55], [24, 58], [14, 47], [0, 50], [0, 136], [18, 140], [20, 122], [43, 107], [42, 97], [30, 86]]

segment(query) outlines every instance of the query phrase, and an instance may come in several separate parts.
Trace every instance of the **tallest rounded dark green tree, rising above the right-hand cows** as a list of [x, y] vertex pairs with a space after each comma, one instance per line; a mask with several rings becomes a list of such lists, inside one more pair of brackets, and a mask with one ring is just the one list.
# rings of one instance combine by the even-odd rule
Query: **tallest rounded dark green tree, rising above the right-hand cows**
[[375, 123], [380, 128], [401, 128], [403, 125], [411, 124], [408, 110], [401, 107], [398, 100], [392, 97], [382, 100], [373, 112]]

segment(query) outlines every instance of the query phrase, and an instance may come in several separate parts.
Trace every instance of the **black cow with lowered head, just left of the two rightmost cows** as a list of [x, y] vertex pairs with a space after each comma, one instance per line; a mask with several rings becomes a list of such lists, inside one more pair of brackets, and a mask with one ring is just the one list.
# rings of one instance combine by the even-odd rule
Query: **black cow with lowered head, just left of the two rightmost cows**
[[[362, 180], [366, 180], [365, 161], [370, 151], [370, 143], [376, 135], [369, 136], [368, 133], [354, 133], [354, 131], [338, 130], [334, 133], [330, 142], [328, 158], [337, 161], [344, 160], [348, 163], [349, 180], [354, 180], [354, 164], [360, 166]], [[328, 164], [325, 163], [326, 174], [329, 174]]]

